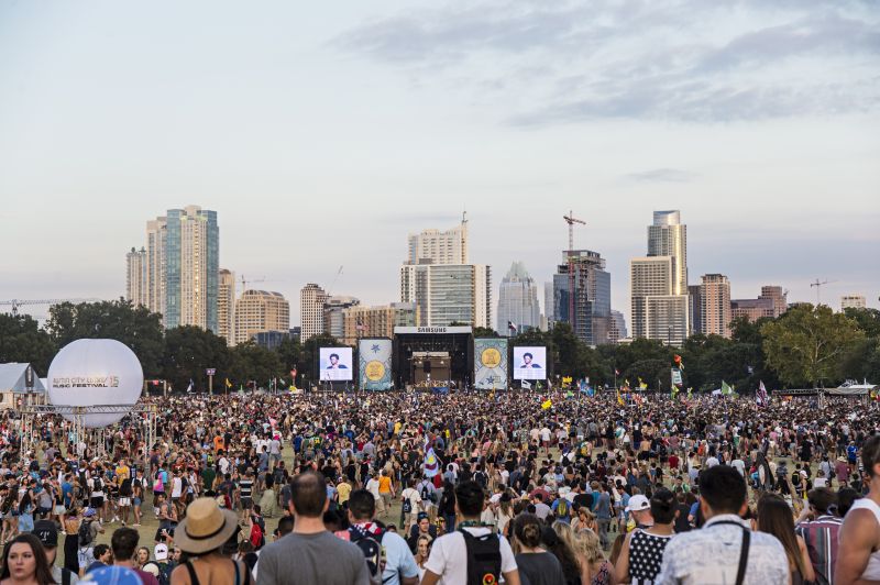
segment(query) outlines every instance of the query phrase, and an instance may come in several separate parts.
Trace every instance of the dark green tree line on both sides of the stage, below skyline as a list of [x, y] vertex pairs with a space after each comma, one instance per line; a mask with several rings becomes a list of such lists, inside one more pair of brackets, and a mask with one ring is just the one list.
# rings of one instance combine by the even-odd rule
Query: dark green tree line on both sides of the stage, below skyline
[[[475, 336], [494, 336], [475, 328]], [[207, 368], [215, 368], [215, 391], [266, 387], [277, 379], [279, 387], [315, 382], [318, 350], [341, 345], [329, 335], [305, 343], [285, 339], [270, 350], [254, 342], [228, 346], [223, 338], [197, 327], [164, 330], [162, 317], [124, 299], [101, 302], [55, 305], [41, 327], [26, 314], [0, 314], [0, 363], [30, 362], [41, 376], [57, 351], [77, 339], [114, 339], [131, 347], [141, 361], [146, 379], [165, 379], [173, 389], [185, 389], [193, 380], [207, 389]], [[847, 378], [880, 380], [880, 311], [847, 309], [836, 313], [827, 306], [802, 303], [777, 319], [732, 323], [729, 339], [691, 335], [681, 347], [661, 341], [637, 339], [628, 344], [592, 347], [582, 342], [566, 323], [550, 331], [530, 330], [510, 338], [513, 346], [547, 347], [548, 372], [552, 378], [590, 378], [590, 384], [613, 387], [639, 380], [659, 391], [670, 390], [670, 368], [681, 356], [685, 388], [707, 391], [722, 382], [747, 393], [763, 382], [768, 389], [833, 387]], [[282, 382], [283, 380], [283, 382]]]

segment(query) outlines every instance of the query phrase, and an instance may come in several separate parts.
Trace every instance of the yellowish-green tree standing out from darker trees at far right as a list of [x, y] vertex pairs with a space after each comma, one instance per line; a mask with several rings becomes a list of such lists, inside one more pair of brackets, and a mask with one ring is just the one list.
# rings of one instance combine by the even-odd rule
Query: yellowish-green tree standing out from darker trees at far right
[[853, 319], [810, 303], [765, 323], [761, 335], [767, 363], [782, 382], [814, 386], [839, 379], [838, 362], [865, 336]]

